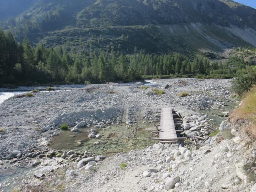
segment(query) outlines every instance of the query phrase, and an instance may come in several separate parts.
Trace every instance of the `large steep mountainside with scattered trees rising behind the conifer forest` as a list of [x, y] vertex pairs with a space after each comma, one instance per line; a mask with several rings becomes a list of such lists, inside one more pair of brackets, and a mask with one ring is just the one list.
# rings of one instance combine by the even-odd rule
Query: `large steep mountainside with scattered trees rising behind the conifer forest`
[[255, 9], [230, 0], [38, 0], [2, 27], [19, 41], [28, 35], [74, 50], [221, 51], [256, 46], [255, 16]]

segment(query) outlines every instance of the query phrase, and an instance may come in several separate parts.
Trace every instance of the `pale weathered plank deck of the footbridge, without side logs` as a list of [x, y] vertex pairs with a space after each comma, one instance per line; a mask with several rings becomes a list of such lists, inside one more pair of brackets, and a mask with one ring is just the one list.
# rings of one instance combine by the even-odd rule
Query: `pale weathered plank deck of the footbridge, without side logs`
[[161, 110], [159, 140], [176, 142], [177, 139], [172, 109], [163, 108]]

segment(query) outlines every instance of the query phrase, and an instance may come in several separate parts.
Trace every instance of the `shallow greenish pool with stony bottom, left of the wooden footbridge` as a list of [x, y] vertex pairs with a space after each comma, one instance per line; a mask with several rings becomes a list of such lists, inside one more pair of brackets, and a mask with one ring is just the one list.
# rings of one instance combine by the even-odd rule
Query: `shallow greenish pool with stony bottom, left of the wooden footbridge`
[[[90, 151], [95, 154], [116, 154], [119, 152], [129, 152], [132, 149], [143, 149], [156, 142], [152, 141], [152, 124], [137, 123], [132, 127], [124, 125], [114, 125], [107, 128], [98, 129], [101, 139], [88, 138], [88, 130], [82, 128], [77, 133], [64, 131], [62, 134], [52, 138], [50, 147], [60, 150]], [[95, 145], [94, 142], [99, 142]]]

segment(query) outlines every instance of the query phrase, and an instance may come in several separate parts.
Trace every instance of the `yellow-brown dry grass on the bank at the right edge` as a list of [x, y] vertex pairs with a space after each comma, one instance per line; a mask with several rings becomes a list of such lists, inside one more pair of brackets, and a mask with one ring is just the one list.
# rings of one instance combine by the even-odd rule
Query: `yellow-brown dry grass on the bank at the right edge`
[[252, 139], [256, 138], [256, 85], [244, 96], [242, 105], [230, 114], [230, 122], [242, 125], [250, 122], [244, 126], [243, 132]]

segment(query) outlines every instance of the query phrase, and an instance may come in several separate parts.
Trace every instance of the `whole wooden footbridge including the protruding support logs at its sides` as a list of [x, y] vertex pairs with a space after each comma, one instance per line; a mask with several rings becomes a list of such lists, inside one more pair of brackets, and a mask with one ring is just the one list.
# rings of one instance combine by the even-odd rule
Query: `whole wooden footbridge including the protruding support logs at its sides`
[[156, 115], [156, 118], [160, 117], [160, 125], [155, 125], [156, 131], [153, 134], [158, 138], [152, 138], [152, 140], [158, 140], [160, 143], [177, 143], [178, 140], [184, 140], [185, 137], [178, 137], [178, 132], [183, 132], [183, 130], [176, 130], [176, 127], [180, 126], [181, 123], [174, 123], [174, 121], [180, 122], [182, 118], [175, 110], [171, 108], [163, 108], [161, 114]]

